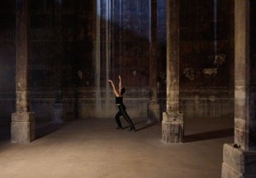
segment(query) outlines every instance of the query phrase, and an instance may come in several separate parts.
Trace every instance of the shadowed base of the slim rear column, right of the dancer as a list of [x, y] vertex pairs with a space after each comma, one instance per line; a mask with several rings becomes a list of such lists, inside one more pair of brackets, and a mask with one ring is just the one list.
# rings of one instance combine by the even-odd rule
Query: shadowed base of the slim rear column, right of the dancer
[[148, 120], [147, 123], [151, 124], [159, 122], [160, 120], [160, 105], [156, 103], [148, 104]]

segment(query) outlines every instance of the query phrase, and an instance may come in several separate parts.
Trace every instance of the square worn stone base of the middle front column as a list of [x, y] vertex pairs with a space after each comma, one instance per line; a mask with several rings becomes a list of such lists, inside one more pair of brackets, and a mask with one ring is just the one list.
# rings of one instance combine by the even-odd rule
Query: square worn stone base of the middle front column
[[183, 143], [184, 122], [182, 113], [165, 113], [162, 121], [162, 141], [164, 143]]

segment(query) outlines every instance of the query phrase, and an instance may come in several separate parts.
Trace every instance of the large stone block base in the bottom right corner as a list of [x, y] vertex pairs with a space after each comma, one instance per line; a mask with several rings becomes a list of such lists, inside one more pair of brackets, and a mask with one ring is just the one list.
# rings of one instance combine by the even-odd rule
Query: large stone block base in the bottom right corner
[[224, 144], [221, 177], [256, 177], [256, 152], [234, 148], [233, 144]]

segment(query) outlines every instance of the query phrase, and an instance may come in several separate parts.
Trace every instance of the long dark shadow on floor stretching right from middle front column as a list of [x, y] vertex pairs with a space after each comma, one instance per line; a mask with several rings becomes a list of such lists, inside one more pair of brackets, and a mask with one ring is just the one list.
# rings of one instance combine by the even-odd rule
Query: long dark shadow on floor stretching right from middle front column
[[206, 133], [185, 135], [184, 143], [191, 143], [191, 142], [203, 141], [208, 139], [216, 139], [216, 138], [225, 138], [225, 137], [231, 137], [231, 136], [234, 136], [234, 128], [215, 130], [215, 131], [206, 132]]

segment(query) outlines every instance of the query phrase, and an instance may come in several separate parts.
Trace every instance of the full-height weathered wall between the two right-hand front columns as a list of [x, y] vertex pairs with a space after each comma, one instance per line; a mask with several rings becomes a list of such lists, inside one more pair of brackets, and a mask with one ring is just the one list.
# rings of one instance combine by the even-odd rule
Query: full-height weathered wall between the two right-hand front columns
[[184, 118], [233, 118], [234, 1], [183, 0], [180, 20]]

